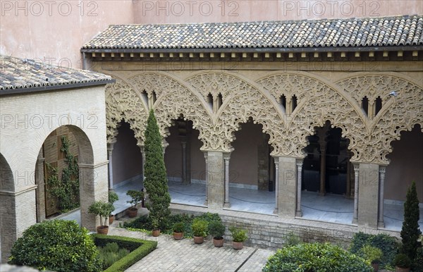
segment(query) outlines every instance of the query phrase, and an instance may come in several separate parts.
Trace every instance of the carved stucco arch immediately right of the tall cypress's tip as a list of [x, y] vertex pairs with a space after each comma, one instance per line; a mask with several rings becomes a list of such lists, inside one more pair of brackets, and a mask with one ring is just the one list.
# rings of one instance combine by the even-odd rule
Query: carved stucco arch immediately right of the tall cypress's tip
[[[185, 120], [192, 121], [192, 128], [199, 130], [199, 139], [203, 143], [201, 149], [213, 149], [213, 122], [206, 102], [200, 94], [178, 78], [165, 73], [141, 73], [128, 78], [128, 82], [137, 92], [155, 92], [157, 101], [154, 102], [153, 109], [162, 137], [167, 137], [168, 128], [173, 125], [173, 121], [183, 116]], [[164, 146], [166, 145], [164, 140]]]

